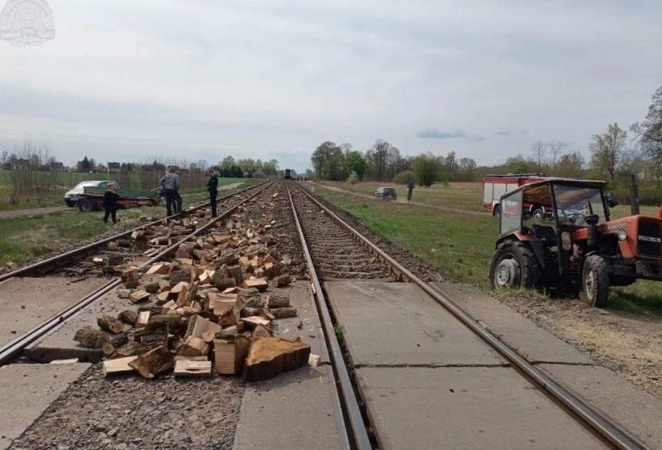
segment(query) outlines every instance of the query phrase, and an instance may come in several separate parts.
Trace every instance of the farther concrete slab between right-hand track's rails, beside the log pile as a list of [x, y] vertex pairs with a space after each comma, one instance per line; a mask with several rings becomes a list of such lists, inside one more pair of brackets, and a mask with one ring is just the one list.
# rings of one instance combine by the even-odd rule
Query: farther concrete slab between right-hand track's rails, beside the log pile
[[502, 366], [502, 357], [411, 283], [324, 283], [354, 366]]

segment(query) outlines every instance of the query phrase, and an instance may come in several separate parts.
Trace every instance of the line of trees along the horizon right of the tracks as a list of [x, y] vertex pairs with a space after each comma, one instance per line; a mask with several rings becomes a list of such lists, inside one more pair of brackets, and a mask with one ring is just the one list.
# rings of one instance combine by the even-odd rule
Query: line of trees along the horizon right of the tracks
[[[603, 179], [610, 189], [625, 191], [630, 174], [640, 185], [642, 203], [659, 204], [662, 197], [662, 86], [652, 95], [645, 119], [625, 129], [619, 123], [593, 134], [588, 158], [572, 150], [564, 141], [535, 140], [524, 152], [509, 157], [504, 164], [481, 165], [451, 151], [416, 157], [400, 154], [387, 141], [377, 139], [364, 152], [352, 144], [325, 141], [315, 148], [310, 162], [315, 176], [322, 180], [376, 180], [429, 186], [445, 181], [479, 182], [489, 173], [546, 173], [547, 175]], [[312, 175], [312, 174], [311, 174]], [[626, 201], [626, 195], [621, 196]]]

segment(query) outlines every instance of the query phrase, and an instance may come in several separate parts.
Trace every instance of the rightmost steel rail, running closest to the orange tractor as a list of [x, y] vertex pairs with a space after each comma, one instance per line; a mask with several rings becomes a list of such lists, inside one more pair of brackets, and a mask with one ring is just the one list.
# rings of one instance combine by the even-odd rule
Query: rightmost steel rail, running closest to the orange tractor
[[[296, 183], [295, 183], [296, 185]], [[582, 421], [585, 422], [590, 428], [595, 430], [599, 435], [601, 435], [605, 440], [615, 445], [619, 449], [627, 450], [641, 450], [649, 449], [647, 445], [640, 440], [639, 437], [631, 433], [629, 430], [626, 430], [621, 424], [617, 424], [615, 421], [612, 421], [605, 416], [602, 412], [596, 410], [591, 405], [588, 405], [587, 402], [583, 401], [579, 396], [571, 394], [563, 387], [561, 387], [555, 380], [552, 380], [548, 375], [540, 371], [533, 364], [529, 363], [526, 359], [518, 355], [517, 352], [512, 350], [509, 346], [506, 346], [502, 341], [499, 341], [496, 336], [488, 332], [464, 309], [458, 307], [454, 302], [449, 298], [441, 295], [436, 290], [430, 288], [425, 281], [421, 280], [419, 277], [416, 277], [412, 272], [409, 272], [403, 265], [398, 263], [391, 256], [386, 254], [382, 249], [377, 247], [377, 245], [370, 242], [368, 238], [363, 236], [359, 231], [356, 231], [352, 226], [347, 224], [343, 219], [340, 219], [335, 213], [333, 213], [329, 208], [326, 208], [322, 203], [320, 203], [315, 197], [310, 195], [303, 189], [301, 186], [296, 185], [296, 187], [306, 194], [310, 200], [312, 200], [319, 208], [322, 208], [330, 217], [333, 217], [336, 222], [345, 227], [348, 231], [352, 232], [356, 238], [361, 240], [365, 245], [370, 249], [373, 249], [379, 257], [383, 259], [386, 263], [389, 263], [391, 266], [395, 267], [398, 272], [403, 274], [407, 279], [412, 281], [414, 284], [419, 286], [432, 297], [437, 303], [442, 307], [447, 309], [450, 313], [453, 314], [460, 322], [466, 325], [469, 329], [477, 334], [481, 339], [486, 341], [492, 348], [495, 348], [502, 356], [504, 356], [511, 364], [517, 366], [522, 372], [529, 376], [534, 382], [536, 382], [541, 389], [547, 391], [552, 397], [557, 401], [566, 406], [571, 412], [576, 414]]]

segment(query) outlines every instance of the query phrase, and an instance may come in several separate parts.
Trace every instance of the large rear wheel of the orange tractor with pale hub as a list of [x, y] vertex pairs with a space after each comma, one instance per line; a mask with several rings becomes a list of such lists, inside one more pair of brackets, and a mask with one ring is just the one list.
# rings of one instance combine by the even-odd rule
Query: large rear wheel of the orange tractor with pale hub
[[506, 241], [497, 247], [490, 263], [492, 289], [537, 289], [541, 267], [529, 247], [520, 241]]

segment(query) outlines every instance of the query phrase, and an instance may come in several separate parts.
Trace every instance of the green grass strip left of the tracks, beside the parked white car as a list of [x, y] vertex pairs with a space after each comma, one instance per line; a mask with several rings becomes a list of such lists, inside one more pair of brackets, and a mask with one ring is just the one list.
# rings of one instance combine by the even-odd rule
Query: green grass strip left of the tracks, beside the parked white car
[[[121, 221], [149, 217], [163, 208], [119, 210]], [[110, 222], [110, 221], [109, 221]], [[92, 238], [112, 228], [103, 223], [103, 212], [79, 212], [0, 220], [0, 265], [23, 263], [31, 258], [61, 249], [77, 240]]]

